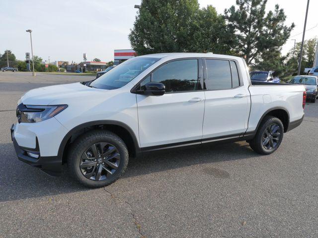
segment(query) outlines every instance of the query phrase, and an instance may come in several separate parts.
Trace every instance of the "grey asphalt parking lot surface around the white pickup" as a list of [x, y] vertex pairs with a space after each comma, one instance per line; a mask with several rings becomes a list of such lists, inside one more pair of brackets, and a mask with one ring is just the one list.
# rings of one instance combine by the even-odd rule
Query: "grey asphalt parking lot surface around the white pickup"
[[0, 238], [317, 238], [318, 102], [274, 154], [245, 142], [131, 158], [88, 189], [16, 158], [9, 128], [27, 90], [93, 77], [0, 72]]

